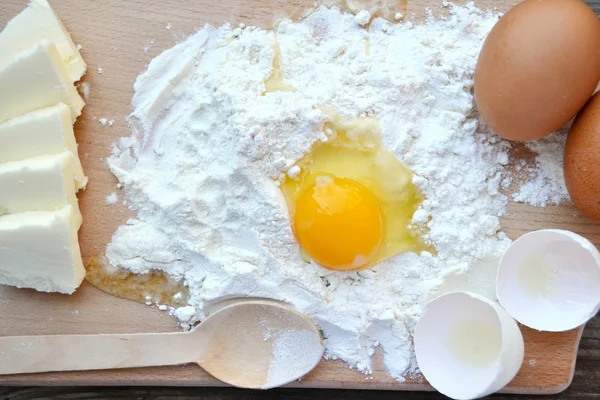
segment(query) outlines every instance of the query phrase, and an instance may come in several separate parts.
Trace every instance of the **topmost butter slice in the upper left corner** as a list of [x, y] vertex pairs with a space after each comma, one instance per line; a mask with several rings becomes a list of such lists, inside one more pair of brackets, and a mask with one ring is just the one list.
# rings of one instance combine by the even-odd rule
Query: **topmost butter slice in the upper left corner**
[[78, 81], [85, 74], [85, 61], [71, 35], [46, 0], [32, 0], [0, 33], [0, 68], [14, 56], [33, 48], [42, 40], [49, 40], [56, 45], [72, 82]]

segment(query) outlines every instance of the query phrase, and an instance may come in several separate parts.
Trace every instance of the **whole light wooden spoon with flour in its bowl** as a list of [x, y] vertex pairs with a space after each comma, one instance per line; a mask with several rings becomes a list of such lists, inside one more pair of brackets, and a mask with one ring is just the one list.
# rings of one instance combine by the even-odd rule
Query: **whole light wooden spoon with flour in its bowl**
[[189, 332], [0, 337], [0, 375], [197, 363], [234, 386], [269, 389], [310, 372], [319, 329], [275, 302], [222, 308]]

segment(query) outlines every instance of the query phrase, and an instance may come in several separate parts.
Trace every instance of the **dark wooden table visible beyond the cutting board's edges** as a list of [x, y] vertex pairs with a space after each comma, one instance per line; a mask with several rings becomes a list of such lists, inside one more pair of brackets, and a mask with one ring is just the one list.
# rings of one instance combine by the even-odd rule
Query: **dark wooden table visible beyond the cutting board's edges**
[[[600, 0], [586, 0], [597, 13], [600, 13]], [[512, 395], [497, 395], [496, 399], [514, 398]], [[600, 317], [588, 323], [581, 340], [577, 368], [572, 385], [562, 394], [548, 396], [553, 399], [600, 398]], [[228, 388], [126, 388], [126, 387], [0, 387], [0, 399], [39, 399], [39, 398], [98, 398], [98, 399], [442, 399], [437, 393], [428, 392], [374, 392], [356, 390], [302, 390], [279, 389], [269, 392], [252, 392]], [[521, 399], [535, 396], [519, 396]], [[538, 397], [539, 398], [539, 397]]]

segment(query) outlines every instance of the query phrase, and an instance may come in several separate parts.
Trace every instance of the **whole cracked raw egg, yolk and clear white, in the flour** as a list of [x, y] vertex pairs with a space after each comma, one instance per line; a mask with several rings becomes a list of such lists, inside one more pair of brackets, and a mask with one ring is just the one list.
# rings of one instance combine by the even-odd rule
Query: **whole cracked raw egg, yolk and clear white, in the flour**
[[405, 251], [430, 249], [412, 226], [423, 197], [379, 139], [374, 118], [329, 116], [317, 142], [281, 181], [294, 235], [316, 263], [368, 268]]

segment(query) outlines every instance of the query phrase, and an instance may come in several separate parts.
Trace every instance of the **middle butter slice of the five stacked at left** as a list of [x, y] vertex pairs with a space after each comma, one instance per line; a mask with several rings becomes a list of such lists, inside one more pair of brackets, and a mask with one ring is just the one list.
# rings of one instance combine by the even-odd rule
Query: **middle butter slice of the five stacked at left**
[[0, 124], [0, 164], [46, 154], [73, 154], [75, 189], [87, 184], [71, 124], [71, 111], [63, 103], [13, 118]]

